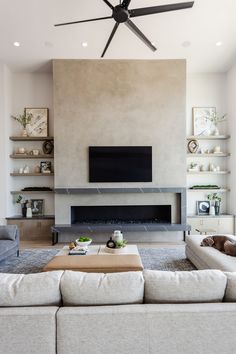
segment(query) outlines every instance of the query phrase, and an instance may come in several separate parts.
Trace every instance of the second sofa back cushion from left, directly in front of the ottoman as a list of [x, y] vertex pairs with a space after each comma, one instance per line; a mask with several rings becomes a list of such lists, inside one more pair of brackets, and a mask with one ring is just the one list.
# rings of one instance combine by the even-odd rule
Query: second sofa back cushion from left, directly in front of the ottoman
[[65, 306], [143, 303], [142, 272], [83, 273], [66, 270], [61, 278]]

